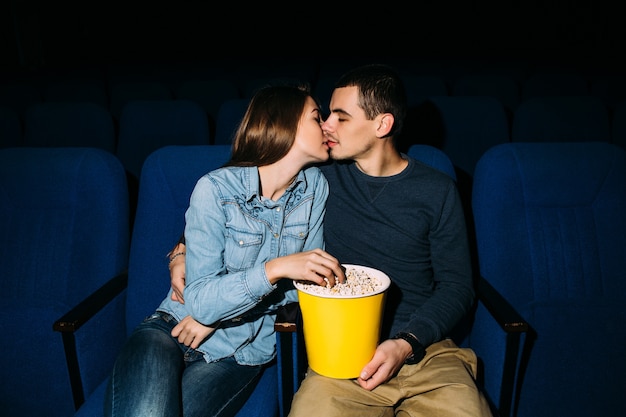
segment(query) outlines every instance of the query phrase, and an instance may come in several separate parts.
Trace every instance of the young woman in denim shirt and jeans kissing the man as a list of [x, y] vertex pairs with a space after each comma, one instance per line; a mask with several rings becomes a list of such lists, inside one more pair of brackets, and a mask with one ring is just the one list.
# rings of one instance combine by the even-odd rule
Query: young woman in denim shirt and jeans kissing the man
[[[231, 160], [203, 176], [185, 214], [186, 287], [171, 292], [120, 353], [109, 416], [230, 416], [275, 356], [275, 313], [291, 280], [345, 278], [322, 248], [328, 159], [320, 109], [302, 87], [252, 98]], [[287, 278], [287, 279], [284, 279]]]

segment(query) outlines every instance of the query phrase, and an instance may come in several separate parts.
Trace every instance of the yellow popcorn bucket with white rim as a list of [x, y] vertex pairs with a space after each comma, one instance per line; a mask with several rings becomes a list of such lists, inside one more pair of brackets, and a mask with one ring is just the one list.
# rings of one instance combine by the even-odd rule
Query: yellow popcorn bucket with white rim
[[375, 278], [380, 285], [365, 295], [331, 295], [294, 283], [309, 366], [320, 375], [349, 379], [358, 377], [374, 356], [391, 280], [377, 269], [343, 266]]

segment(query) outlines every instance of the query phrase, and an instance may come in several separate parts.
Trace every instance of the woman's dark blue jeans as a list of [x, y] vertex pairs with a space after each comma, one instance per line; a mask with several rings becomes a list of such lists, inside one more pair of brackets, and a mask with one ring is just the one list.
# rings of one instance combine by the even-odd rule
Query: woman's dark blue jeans
[[262, 367], [233, 358], [207, 363], [171, 336], [176, 324], [156, 312], [133, 331], [109, 380], [105, 416], [234, 416], [244, 405]]

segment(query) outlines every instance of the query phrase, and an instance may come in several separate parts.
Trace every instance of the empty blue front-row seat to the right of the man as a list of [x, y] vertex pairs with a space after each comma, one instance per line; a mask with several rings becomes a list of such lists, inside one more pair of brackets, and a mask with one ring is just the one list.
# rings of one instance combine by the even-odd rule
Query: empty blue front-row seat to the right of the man
[[[626, 152], [604, 142], [498, 145], [478, 162], [472, 197], [480, 274], [534, 335], [517, 416], [626, 415]], [[497, 392], [497, 357], [479, 354]]]

